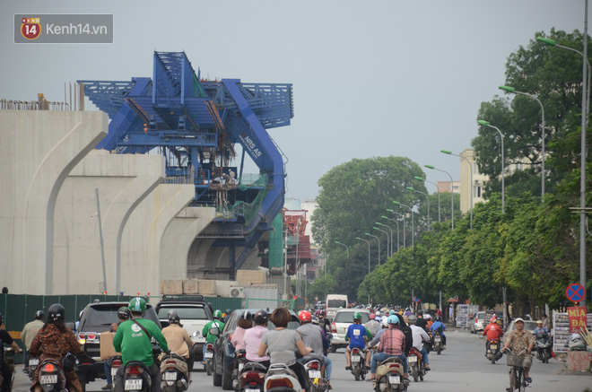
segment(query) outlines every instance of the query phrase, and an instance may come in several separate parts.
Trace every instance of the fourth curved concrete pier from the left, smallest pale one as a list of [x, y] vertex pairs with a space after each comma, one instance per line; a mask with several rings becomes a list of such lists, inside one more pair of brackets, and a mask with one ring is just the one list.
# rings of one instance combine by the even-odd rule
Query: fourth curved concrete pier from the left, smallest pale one
[[215, 215], [214, 207], [186, 207], [170, 222], [161, 242], [161, 279], [188, 277], [189, 248]]

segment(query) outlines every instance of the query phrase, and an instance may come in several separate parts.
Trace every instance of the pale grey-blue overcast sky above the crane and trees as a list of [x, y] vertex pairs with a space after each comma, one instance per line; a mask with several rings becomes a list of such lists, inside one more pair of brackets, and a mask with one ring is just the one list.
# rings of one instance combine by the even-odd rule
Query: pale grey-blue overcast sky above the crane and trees
[[[15, 13], [112, 13], [114, 43], [14, 44]], [[584, 30], [584, 0], [0, 0], [0, 98], [152, 76], [154, 50], [184, 50], [211, 79], [292, 83], [292, 125], [269, 133], [289, 160], [286, 196], [313, 199], [354, 158], [407, 156], [459, 179], [440, 150], [470, 148], [509, 55], [553, 27]]]

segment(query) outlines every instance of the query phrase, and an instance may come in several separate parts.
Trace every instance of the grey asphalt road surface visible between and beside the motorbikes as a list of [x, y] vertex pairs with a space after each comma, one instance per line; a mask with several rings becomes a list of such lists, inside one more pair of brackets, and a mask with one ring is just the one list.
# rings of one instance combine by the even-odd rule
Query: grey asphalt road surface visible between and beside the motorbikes
[[[487, 392], [505, 391], [509, 386], [508, 366], [505, 358], [492, 365], [484, 357], [483, 337], [471, 335], [467, 332], [448, 332], [448, 349], [436, 355], [430, 354], [431, 371], [424, 381], [412, 381], [409, 391], [438, 391], [438, 392]], [[353, 374], [345, 370], [344, 350], [330, 354], [333, 360], [333, 375], [331, 383], [336, 392], [371, 392], [371, 384], [365, 381], [355, 381]], [[201, 369], [201, 366], [196, 365]], [[530, 372], [533, 378], [531, 387], [533, 392], [581, 392], [585, 388], [592, 388], [592, 375], [588, 372], [568, 372], [563, 362], [552, 359], [548, 364], [533, 361]], [[194, 371], [190, 392], [222, 392], [222, 388], [213, 387], [212, 377], [204, 371]], [[96, 381], [87, 387], [89, 392], [101, 392], [104, 380]], [[17, 373], [13, 390], [24, 392], [29, 390], [30, 381], [22, 373], [22, 365], [17, 366]]]

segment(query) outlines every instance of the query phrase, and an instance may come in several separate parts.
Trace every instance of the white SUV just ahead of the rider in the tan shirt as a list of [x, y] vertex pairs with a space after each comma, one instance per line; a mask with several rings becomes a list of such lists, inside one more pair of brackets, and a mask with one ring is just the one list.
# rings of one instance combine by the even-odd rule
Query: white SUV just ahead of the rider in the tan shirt
[[169, 326], [169, 313], [177, 312], [181, 324], [187, 330], [194, 343], [192, 352], [196, 362], [204, 361], [205, 336], [202, 331], [207, 323], [213, 319], [212, 305], [205, 301], [203, 295], [178, 294], [163, 295], [156, 304], [156, 314], [161, 320], [161, 326]]

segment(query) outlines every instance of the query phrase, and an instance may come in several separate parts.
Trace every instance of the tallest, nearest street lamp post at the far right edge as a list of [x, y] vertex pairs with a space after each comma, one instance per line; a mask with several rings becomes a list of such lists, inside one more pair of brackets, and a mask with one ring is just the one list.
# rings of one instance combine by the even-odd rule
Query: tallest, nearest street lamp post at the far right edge
[[[592, 79], [590, 62], [588, 61], [588, 0], [586, 0], [584, 15], [584, 53], [574, 48], [557, 45], [554, 39], [536, 37], [536, 40], [552, 47], [564, 48], [579, 53], [586, 60], [582, 66], [582, 128], [579, 162], [579, 283], [586, 286], [586, 132], [588, 131], [588, 114], [590, 112], [590, 79]], [[588, 75], [586, 74], [586, 65], [588, 65]], [[588, 83], [586, 83], [586, 79], [588, 79]], [[588, 89], [584, 89], [586, 84], [588, 84]], [[584, 298], [581, 305], [586, 306], [586, 298]]]

